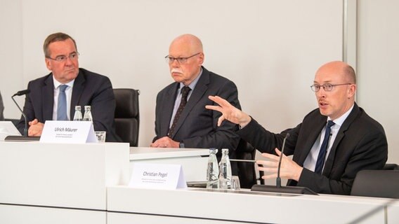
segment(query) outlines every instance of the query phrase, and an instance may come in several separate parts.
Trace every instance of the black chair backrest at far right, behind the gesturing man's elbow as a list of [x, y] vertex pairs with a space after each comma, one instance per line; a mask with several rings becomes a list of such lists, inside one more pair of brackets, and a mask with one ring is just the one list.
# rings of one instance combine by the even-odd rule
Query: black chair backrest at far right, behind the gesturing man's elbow
[[356, 174], [351, 195], [399, 198], [399, 170], [361, 170]]

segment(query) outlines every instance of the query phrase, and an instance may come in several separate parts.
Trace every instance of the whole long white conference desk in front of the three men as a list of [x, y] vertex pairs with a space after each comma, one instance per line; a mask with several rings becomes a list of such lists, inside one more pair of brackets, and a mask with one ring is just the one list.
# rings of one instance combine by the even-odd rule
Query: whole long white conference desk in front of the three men
[[0, 141], [0, 223], [399, 223], [387, 199], [127, 187], [132, 162], [185, 161], [205, 175], [208, 150], [149, 150]]

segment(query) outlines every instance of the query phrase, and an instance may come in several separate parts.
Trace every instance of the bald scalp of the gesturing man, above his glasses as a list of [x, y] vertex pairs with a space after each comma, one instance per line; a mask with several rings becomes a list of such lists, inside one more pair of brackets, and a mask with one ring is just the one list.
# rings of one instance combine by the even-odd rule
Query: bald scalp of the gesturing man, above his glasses
[[349, 64], [345, 62], [335, 61], [328, 62], [322, 65], [316, 75], [323, 73], [335, 73], [336, 76], [342, 76], [342, 80], [346, 83], [356, 84], [355, 70]]

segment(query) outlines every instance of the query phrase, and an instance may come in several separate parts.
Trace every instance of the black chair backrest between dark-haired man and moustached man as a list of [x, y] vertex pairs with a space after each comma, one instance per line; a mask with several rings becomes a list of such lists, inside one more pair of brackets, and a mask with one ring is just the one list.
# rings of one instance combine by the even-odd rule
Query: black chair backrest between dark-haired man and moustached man
[[138, 110], [138, 95], [140, 90], [114, 89], [115, 101], [115, 130], [117, 135], [130, 146], [138, 146], [138, 127], [140, 113]]

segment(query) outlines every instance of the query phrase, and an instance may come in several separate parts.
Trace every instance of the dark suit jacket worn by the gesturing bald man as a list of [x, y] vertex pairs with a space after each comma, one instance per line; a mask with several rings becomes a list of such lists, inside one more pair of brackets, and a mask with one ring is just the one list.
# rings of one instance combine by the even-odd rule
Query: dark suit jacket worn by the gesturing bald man
[[[289, 132], [284, 154], [294, 155], [294, 162], [303, 167], [326, 121], [327, 117], [315, 109], [300, 125], [281, 134], [268, 132], [255, 120], [238, 134], [259, 151], [275, 154], [274, 148], [281, 149], [282, 140]], [[287, 185], [308, 187], [316, 193], [349, 195], [353, 180], [361, 169], [382, 169], [387, 158], [384, 128], [355, 104], [336, 135], [322, 175], [303, 168], [299, 181], [289, 180]]]

